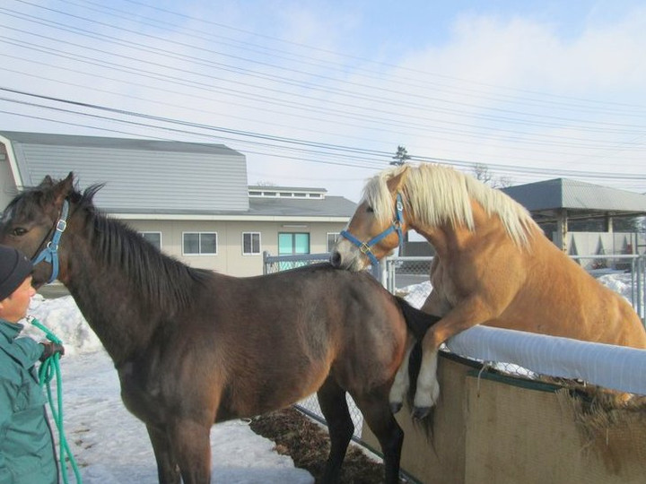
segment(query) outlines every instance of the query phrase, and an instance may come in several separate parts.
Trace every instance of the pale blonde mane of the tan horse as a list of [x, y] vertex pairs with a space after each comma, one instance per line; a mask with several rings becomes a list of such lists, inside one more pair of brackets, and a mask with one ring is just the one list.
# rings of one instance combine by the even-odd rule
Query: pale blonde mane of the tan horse
[[451, 227], [464, 225], [469, 230], [475, 229], [471, 211], [473, 199], [488, 215], [498, 215], [518, 246], [527, 246], [530, 228], [537, 227], [525, 207], [509, 195], [458, 170], [432, 164], [406, 164], [386, 169], [368, 181], [362, 200], [371, 205], [375, 216], [383, 222], [392, 220], [395, 213], [388, 180], [399, 175], [403, 177], [399, 192], [406, 210], [425, 225], [435, 227], [449, 222]]

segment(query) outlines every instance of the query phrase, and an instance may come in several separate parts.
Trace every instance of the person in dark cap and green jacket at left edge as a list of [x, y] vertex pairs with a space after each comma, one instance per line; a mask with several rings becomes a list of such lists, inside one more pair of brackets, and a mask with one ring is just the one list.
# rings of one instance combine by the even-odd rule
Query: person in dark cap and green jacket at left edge
[[55, 484], [57, 460], [34, 365], [62, 346], [18, 338], [31, 296], [32, 265], [0, 246], [0, 484]]

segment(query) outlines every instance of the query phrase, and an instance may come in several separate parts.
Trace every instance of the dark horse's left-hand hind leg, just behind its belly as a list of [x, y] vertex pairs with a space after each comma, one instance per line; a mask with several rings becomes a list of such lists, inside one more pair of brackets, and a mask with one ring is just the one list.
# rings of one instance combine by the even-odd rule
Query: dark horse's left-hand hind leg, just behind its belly
[[319, 388], [317, 396], [320, 409], [327, 420], [330, 436], [330, 453], [322, 482], [339, 482], [341, 480], [341, 464], [354, 433], [354, 424], [345, 401], [345, 390], [334, 380], [327, 378], [323, 386]]

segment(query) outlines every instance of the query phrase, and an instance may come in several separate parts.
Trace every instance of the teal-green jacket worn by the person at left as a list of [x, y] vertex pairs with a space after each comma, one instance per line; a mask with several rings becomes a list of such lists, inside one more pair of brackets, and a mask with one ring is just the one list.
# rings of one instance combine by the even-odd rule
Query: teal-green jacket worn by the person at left
[[34, 364], [43, 346], [0, 319], [0, 484], [54, 484], [57, 460]]

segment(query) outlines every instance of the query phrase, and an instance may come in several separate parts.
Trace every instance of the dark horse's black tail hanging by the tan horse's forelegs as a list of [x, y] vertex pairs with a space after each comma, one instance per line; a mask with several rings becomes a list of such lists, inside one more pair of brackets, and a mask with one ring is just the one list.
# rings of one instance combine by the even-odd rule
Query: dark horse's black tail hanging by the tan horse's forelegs
[[[426, 331], [435, 323], [441, 320], [440, 316], [429, 315], [415, 307], [412, 307], [406, 299], [395, 297], [397, 304], [401, 308], [408, 331], [415, 337], [415, 346], [411, 351], [410, 358], [408, 359], [408, 385], [407, 403], [408, 408], [413, 408], [413, 399], [415, 398], [415, 390], [417, 388], [417, 376], [419, 376], [420, 367], [422, 366], [422, 339]], [[422, 428], [429, 442], [432, 444], [432, 427], [433, 427], [433, 410], [422, 421], [415, 420], [415, 424]], [[433, 449], [434, 450], [434, 449]]]

